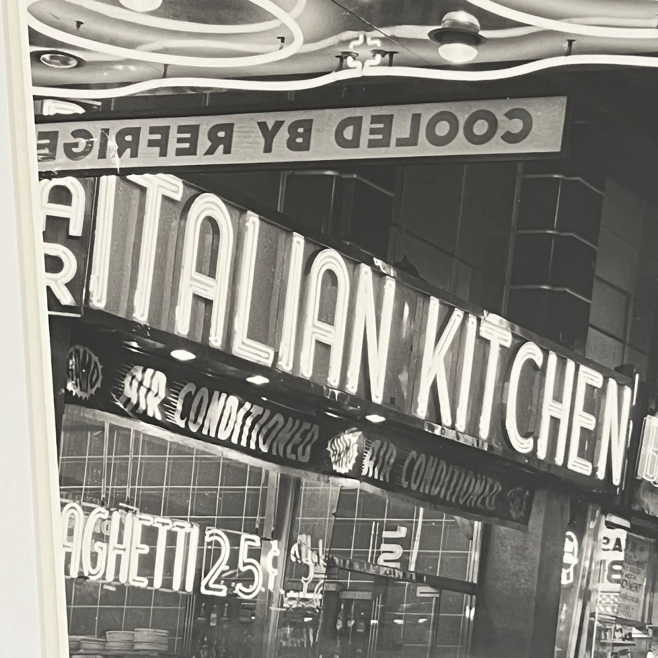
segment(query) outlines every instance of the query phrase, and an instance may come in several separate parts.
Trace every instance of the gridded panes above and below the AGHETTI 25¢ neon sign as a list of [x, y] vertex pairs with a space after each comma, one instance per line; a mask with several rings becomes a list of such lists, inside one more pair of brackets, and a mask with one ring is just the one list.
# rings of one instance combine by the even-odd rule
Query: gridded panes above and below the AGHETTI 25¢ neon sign
[[[63, 499], [107, 508], [127, 503], [142, 513], [188, 520], [199, 524], [201, 538], [206, 526], [257, 533], [267, 486], [261, 468], [97, 420], [93, 413], [64, 418], [60, 481]], [[151, 561], [147, 554], [139, 563], [145, 575], [153, 574], [153, 549]], [[170, 555], [164, 590], [172, 585], [172, 570]], [[236, 616], [242, 635], [257, 621], [257, 605], [247, 606], [246, 619], [244, 605], [211, 610], [197, 595], [114, 583], [67, 578], [66, 595], [70, 635], [103, 638], [107, 630], [161, 628], [169, 631], [172, 653], [193, 650], [192, 626], [211, 624], [211, 617], [215, 628], [218, 619]]]

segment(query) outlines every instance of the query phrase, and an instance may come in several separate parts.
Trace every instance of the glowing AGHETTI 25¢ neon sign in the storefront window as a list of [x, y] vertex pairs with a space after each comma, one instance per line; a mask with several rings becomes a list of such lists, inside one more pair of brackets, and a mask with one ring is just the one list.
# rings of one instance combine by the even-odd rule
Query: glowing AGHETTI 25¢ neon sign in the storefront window
[[[207, 596], [248, 600], [276, 588], [281, 568], [276, 540], [213, 527], [201, 535], [190, 521], [134, 509], [91, 507], [86, 512], [73, 502], [64, 504], [61, 521], [64, 566], [70, 578], [191, 594], [200, 567], [199, 591]], [[322, 540], [317, 549], [311, 544], [311, 537], [302, 534], [290, 549], [291, 562], [307, 570], [299, 592], [283, 592], [288, 606], [309, 601], [319, 605], [322, 599], [324, 547]]]

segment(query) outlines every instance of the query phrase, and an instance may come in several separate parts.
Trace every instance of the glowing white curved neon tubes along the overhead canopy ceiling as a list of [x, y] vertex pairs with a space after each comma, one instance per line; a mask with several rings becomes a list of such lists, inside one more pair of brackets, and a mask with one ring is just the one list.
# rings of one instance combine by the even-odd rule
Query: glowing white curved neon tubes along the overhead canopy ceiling
[[[97, 0], [67, 0], [70, 3], [81, 5], [83, 7], [96, 7], [102, 5], [103, 11], [114, 14], [118, 12], [126, 12], [124, 9], [110, 7], [98, 3]], [[509, 28], [507, 30], [493, 30], [486, 33], [488, 38], [503, 37], [507, 33], [517, 32], [519, 34], [526, 34], [536, 31], [553, 31], [565, 34], [576, 34], [589, 37], [598, 38], [625, 38], [625, 39], [655, 39], [658, 38], [658, 28], [645, 28], [640, 26], [630, 27], [631, 24], [644, 25], [647, 21], [635, 18], [621, 18], [619, 19], [620, 25], [609, 25], [613, 22], [613, 18], [595, 19], [589, 18], [565, 18], [563, 20], [555, 20], [552, 18], [544, 18], [526, 12], [512, 9], [506, 5], [496, 2], [494, 0], [468, 0], [470, 4], [490, 13], [514, 20], [515, 22], [523, 23], [519, 28]], [[220, 68], [223, 66], [253, 66], [257, 64], [271, 63], [286, 59], [297, 52], [305, 52], [307, 50], [316, 50], [318, 47], [328, 46], [336, 41], [337, 37], [324, 39], [318, 43], [303, 44], [303, 35], [301, 29], [295, 21], [296, 16], [303, 11], [306, 0], [297, 0], [295, 7], [290, 12], [286, 13], [283, 9], [274, 5], [272, 0], [249, 0], [249, 2], [266, 9], [274, 16], [274, 20], [262, 23], [246, 24], [241, 26], [199, 26], [194, 23], [171, 21], [169, 19], [159, 18], [157, 16], [145, 16], [138, 14], [138, 18], [133, 18], [141, 24], [148, 24], [157, 26], [166, 30], [174, 29], [171, 24], [178, 26], [188, 26], [191, 31], [196, 31], [199, 34], [246, 34], [261, 32], [273, 28], [279, 24], [288, 27], [293, 33], [293, 41], [290, 44], [284, 45], [277, 51], [261, 52], [257, 55], [246, 55], [243, 57], [188, 57], [183, 55], [164, 55], [163, 53], [149, 51], [149, 46], [155, 48], [158, 44], [145, 44], [136, 49], [121, 48], [110, 44], [97, 43], [89, 39], [80, 38], [75, 35], [70, 35], [60, 32], [56, 28], [47, 26], [39, 21], [34, 16], [29, 16], [28, 22], [32, 28], [41, 32], [45, 36], [57, 38], [71, 45], [84, 47], [87, 49], [97, 50], [105, 55], [112, 55], [114, 57], [131, 57], [134, 59], [141, 59], [143, 61], [155, 63], [176, 63], [188, 66], [207, 66]], [[100, 11], [100, 10], [99, 10]], [[129, 11], [128, 14], [131, 14]], [[144, 22], [146, 21], [146, 22]], [[154, 22], [155, 21], [155, 22]], [[593, 24], [595, 21], [605, 22], [607, 25]], [[183, 29], [188, 29], [183, 28]], [[384, 34], [388, 34], [388, 30], [396, 36], [405, 34], [409, 38], [418, 38], [419, 26], [398, 26], [397, 28], [386, 28]], [[424, 28], [422, 28], [424, 30]], [[405, 31], [406, 30], [406, 31]], [[411, 30], [410, 34], [407, 32]], [[57, 34], [55, 34], [57, 33]], [[413, 33], [413, 34], [412, 34]], [[498, 34], [500, 33], [500, 34]], [[371, 38], [370, 34], [361, 32], [344, 32], [340, 35], [341, 38], [351, 38], [355, 34], [357, 37], [349, 44], [351, 49], [359, 45], [367, 45], [368, 47], [378, 46], [380, 41]], [[419, 33], [418, 33], [419, 34]], [[484, 34], [484, 33], [483, 33]], [[262, 49], [263, 44], [253, 45], [240, 45], [236, 43], [227, 43], [226, 47], [236, 51], [245, 51], [249, 48]], [[145, 80], [143, 82], [136, 82], [126, 84], [124, 86], [114, 89], [74, 89], [74, 88], [52, 88], [37, 86], [33, 88], [34, 95], [51, 97], [51, 98], [68, 98], [68, 99], [107, 99], [114, 97], [122, 97], [126, 95], [133, 95], [138, 93], [146, 93], [154, 91], [155, 89], [176, 89], [176, 88], [201, 88], [201, 89], [235, 89], [247, 91], [301, 91], [306, 89], [315, 89], [335, 82], [344, 82], [345, 80], [353, 78], [361, 78], [365, 76], [370, 77], [397, 77], [397, 78], [417, 78], [425, 80], [442, 80], [445, 82], [460, 81], [460, 82], [484, 82], [493, 80], [504, 80], [509, 78], [516, 78], [539, 72], [542, 70], [549, 70], [553, 68], [564, 68], [567, 66], [582, 66], [582, 65], [599, 65], [599, 66], [640, 66], [646, 68], [658, 68], [658, 59], [645, 55], [564, 55], [557, 57], [547, 57], [537, 61], [520, 64], [517, 66], [509, 66], [507, 68], [499, 68], [496, 70], [460, 70], [460, 69], [430, 69], [412, 66], [380, 66], [381, 55], [372, 54], [369, 59], [359, 61], [353, 57], [347, 57], [345, 61], [345, 68], [343, 70], [333, 71], [327, 74], [309, 77], [301, 80], [235, 80], [232, 78], [197, 78], [197, 77], [180, 77], [180, 78], [164, 78], [158, 80]]]

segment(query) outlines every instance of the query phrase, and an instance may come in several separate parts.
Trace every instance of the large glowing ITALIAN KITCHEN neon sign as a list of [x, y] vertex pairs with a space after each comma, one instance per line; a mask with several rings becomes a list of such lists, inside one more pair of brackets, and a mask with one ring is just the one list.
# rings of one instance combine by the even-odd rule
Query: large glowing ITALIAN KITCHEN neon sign
[[[46, 218], [78, 217], [87, 207], [76, 178], [41, 186]], [[69, 190], [70, 201], [54, 203], [55, 188]], [[175, 176], [103, 176], [94, 201], [93, 309], [429, 421], [426, 428], [539, 468], [620, 485], [632, 389], [617, 374]]]

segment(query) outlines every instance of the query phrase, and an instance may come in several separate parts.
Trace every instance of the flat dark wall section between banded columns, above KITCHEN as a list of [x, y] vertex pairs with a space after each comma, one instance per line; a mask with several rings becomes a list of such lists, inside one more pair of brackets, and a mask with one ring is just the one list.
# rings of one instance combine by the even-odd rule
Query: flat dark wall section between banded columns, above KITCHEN
[[503, 309], [517, 163], [405, 166], [389, 261], [492, 313]]

